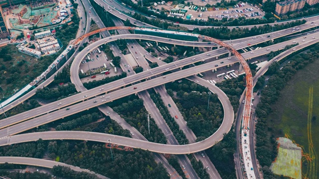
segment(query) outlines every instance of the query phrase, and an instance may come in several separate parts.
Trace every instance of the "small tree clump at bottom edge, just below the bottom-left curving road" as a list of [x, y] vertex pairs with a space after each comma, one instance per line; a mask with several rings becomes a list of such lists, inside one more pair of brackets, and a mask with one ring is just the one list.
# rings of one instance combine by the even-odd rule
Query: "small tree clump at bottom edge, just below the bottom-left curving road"
[[76, 172], [68, 167], [54, 166], [52, 174], [64, 179], [99, 179], [96, 175], [87, 172]]

